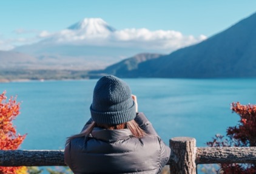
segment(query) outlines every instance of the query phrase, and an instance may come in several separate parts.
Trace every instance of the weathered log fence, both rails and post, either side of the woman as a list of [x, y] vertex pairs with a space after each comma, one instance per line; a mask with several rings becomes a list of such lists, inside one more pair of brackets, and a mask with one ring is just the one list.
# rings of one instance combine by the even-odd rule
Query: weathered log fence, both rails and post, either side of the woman
[[[170, 139], [170, 173], [197, 173], [197, 164], [256, 163], [256, 147], [196, 147], [195, 138]], [[0, 166], [66, 166], [64, 150], [0, 150]]]

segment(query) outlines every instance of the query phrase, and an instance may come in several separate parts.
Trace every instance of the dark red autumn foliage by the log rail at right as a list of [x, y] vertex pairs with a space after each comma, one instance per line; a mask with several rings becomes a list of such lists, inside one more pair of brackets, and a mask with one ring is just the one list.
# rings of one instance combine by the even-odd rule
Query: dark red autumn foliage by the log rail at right
[[[215, 135], [207, 145], [211, 147], [256, 146], [256, 105], [241, 105], [237, 102], [232, 103], [231, 109], [240, 116], [238, 124], [227, 128], [226, 138]], [[220, 164], [220, 171], [223, 174], [256, 173], [256, 166], [255, 164]]]

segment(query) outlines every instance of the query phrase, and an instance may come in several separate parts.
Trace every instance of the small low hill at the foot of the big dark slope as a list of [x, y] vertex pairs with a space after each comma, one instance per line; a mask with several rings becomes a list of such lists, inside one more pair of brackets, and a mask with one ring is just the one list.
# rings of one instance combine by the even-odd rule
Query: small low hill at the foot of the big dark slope
[[138, 74], [138, 65], [147, 60], [157, 59], [163, 54], [141, 53], [129, 57], [114, 65], [108, 66], [104, 70], [90, 71], [89, 74], [115, 74], [118, 77], [136, 77]]

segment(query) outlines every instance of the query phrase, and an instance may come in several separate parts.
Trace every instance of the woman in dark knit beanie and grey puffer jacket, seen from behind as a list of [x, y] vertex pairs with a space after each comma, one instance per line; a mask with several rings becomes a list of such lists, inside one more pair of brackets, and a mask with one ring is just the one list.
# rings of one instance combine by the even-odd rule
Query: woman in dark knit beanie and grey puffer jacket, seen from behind
[[78, 135], [69, 137], [65, 163], [81, 173], [160, 173], [170, 156], [136, 96], [115, 76], [98, 80], [91, 118]]

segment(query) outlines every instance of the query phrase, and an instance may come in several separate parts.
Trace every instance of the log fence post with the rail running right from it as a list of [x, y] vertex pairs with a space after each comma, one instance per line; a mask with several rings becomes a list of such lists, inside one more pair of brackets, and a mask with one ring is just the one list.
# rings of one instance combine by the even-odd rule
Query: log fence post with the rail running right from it
[[196, 147], [195, 138], [170, 139], [170, 173], [197, 173], [197, 164], [256, 163], [256, 147]]

